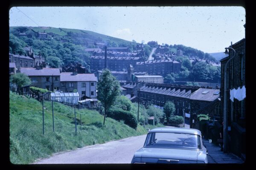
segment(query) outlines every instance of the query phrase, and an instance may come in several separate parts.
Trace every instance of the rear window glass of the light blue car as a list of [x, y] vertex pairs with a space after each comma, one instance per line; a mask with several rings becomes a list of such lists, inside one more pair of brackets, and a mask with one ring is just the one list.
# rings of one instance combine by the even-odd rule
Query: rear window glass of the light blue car
[[164, 147], [177, 149], [202, 149], [201, 137], [188, 133], [148, 133], [144, 147]]

